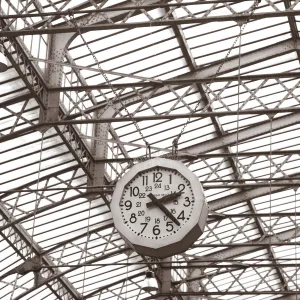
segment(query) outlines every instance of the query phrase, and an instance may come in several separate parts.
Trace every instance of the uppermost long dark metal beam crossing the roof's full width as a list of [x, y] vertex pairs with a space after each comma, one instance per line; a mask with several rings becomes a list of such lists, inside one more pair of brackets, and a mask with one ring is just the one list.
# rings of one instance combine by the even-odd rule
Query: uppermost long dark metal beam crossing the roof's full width
[[[299, 10], [286, 10], [286, 11], [276, 11], [276, 12], [264, 12], [255, 14], [232, 14], [232, 15], [222, 15], [222, 16], [205, 16], [203, 18], [186, 18], [177, 20], [149, 20], [145, 22], [126, 22], [126, 23], [107, 23], [107, 24], [97, 24], [97, 25], [79, 25], [81, 32], [91, 32], [97, 30], [112, 30], [112, 29], [130, 29], [130, 28], [140, 28], [140, 27], [150, 27], [150, 26], [173, 26], [173, 25], [184, 25], [184, 24], [207, 24], [211, 22], [245, 22], [247, 19], [250, 20], [261, 20], [265, 18], [281, 18], [290, 16], [299, 16]], [[97, 22], [98, 23], [98, 22]], [[58, 33], [76, 33], [75, 27], [63, 26], [63, 27], [52, 27], [43, 29], [22, 29], [22, 30], [12, 30], [12, 31], [1, 31], [0, 37], [17, 37], [25, 35], [41, 35], [41, 34], [58, 34]]]

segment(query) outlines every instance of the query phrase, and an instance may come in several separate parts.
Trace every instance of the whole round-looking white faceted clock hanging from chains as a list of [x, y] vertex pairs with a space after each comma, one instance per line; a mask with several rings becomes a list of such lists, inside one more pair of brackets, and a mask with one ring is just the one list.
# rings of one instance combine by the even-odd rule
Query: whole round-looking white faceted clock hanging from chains
[[[162, 202], [180, 222], [176, 225], [150, 194], [160, 200], [179, 192]], [[154, 158], [134, 165], [117, 182], [111, 212], [116, 229], [137, 253], [165, 258], [186, 251], [203, 233], [208, 206], [198, 178], [184, 164]]]

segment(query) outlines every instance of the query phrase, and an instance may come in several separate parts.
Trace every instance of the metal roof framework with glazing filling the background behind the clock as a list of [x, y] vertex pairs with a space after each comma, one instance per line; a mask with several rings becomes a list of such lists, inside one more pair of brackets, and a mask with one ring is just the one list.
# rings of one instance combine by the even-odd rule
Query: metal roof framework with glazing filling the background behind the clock
[[[300, 298], [299, 0], [0, 9], [0, 299]], [[112, 223], [114, 184], [145, 139], [173, 155], [190, 116], [175, 158], [203, 184], [205, 233], [141, 257]]]

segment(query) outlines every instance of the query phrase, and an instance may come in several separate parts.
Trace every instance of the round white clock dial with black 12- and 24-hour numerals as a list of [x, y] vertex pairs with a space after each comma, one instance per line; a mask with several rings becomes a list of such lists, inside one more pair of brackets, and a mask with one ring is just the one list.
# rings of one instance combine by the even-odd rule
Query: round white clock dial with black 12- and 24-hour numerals
[[194, 203], [188, 179], [175, 169], [153, 167], [125, 185], [119, 206], [124, 226], [139, 237], [158, 240], [184, 227]]

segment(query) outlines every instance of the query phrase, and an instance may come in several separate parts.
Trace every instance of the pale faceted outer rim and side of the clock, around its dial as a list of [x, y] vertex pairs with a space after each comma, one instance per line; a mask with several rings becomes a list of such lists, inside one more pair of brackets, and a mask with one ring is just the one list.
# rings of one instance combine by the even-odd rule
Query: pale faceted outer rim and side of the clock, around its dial
[[[185, 223], [176, 234], [170, 235], [164, 239], [148, 239], [136, 235], [127, 226], [124, 226], [121, 209], [119, 206], [125, 186], [130, 181], [132, 181], [133, 178], [136, 177], [139, 173], [145, 172], [155, 167], [173, 169], [179, 172], [190, 182], [191, 189], [195, 198], [195, 212], [192, 213], [189, 222]], [[137, 252], [142, 252], [141, 254], [150, 256], [167, 257], [169, 256], [169, 254], [164, 255], [164, 253], [170, 252], [170, 249], [167, 249], [166, 247], [179, 243], [176, 248], [178, 248], [179, 252], [183, 252], [186, 250], [185, 248], [188, 248], [203, 232], [206, 223], [208, 208], [202, 186], [195, 174], [193, 174], [184, 164], [179, 161], [169, 160], [165, 158], [153, 158], [134, 165], [117, 182], [112, 196], [111, 212], [116, 229]], [[195, 236], [197, 237], [195, 238]], [[163, 248], [165, 248], [164, 251]]]

